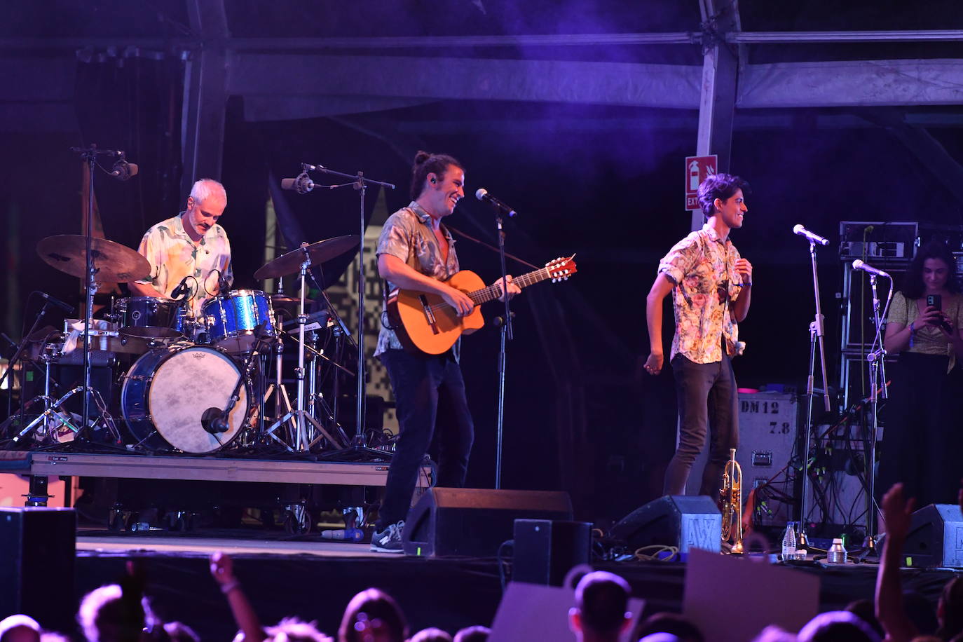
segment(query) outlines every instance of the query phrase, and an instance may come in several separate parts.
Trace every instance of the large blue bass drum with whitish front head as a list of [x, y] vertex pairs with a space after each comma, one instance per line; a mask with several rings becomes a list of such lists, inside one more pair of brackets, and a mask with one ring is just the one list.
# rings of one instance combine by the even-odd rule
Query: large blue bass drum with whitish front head
[[217, 348], [156, 348], [124, 376], [120, 410], [136, 443], [146, 449], [214, 452], [237, 437], [247, 418], [249, 396], [242, 385], [227, 430], [205, 428], [214, 409], [227, 406], [241, 375], [234, 360]]

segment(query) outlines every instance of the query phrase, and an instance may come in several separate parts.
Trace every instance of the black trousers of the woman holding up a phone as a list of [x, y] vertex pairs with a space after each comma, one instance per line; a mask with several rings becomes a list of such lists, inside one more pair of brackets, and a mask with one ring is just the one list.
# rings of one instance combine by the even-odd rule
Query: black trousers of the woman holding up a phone
[[879, 414], [884, 427], [877, 500], [901, 481], [918, 508], [956, 503], [963, 476], [963, 374], [959, 367], [948, 374], [948, 365], [944, 356], [899, 354], [890, 398]]

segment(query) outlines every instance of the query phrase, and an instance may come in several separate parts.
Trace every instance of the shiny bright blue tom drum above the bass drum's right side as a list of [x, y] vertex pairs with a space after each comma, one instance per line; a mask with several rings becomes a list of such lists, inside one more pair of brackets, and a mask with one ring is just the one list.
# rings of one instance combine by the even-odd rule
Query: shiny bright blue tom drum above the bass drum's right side
[[201, 312], [211, 343], [230, 354], [254, 348], [254, 328], [264, 324], [265, 336], [273, 337], [271, 299], [260, 290], [232, 290], [204, 303]]

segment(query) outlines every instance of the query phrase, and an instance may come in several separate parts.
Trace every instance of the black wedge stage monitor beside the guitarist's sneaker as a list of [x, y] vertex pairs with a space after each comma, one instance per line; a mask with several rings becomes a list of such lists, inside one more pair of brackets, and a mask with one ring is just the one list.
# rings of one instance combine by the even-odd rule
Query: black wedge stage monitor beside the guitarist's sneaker
[[429, 488], [404, 521], [405, 554], [491, 557], [511, 539], [516, 519], [571, 520], [560, 491]]

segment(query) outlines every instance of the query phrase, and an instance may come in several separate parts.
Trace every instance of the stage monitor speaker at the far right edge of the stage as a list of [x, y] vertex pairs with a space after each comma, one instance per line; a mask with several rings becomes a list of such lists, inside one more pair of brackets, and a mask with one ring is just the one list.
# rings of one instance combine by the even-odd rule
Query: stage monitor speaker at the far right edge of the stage
[[913, 513], [903, 545], [906, 566], [963, 568], [963, 515], [955, 503], [931, 503]]

